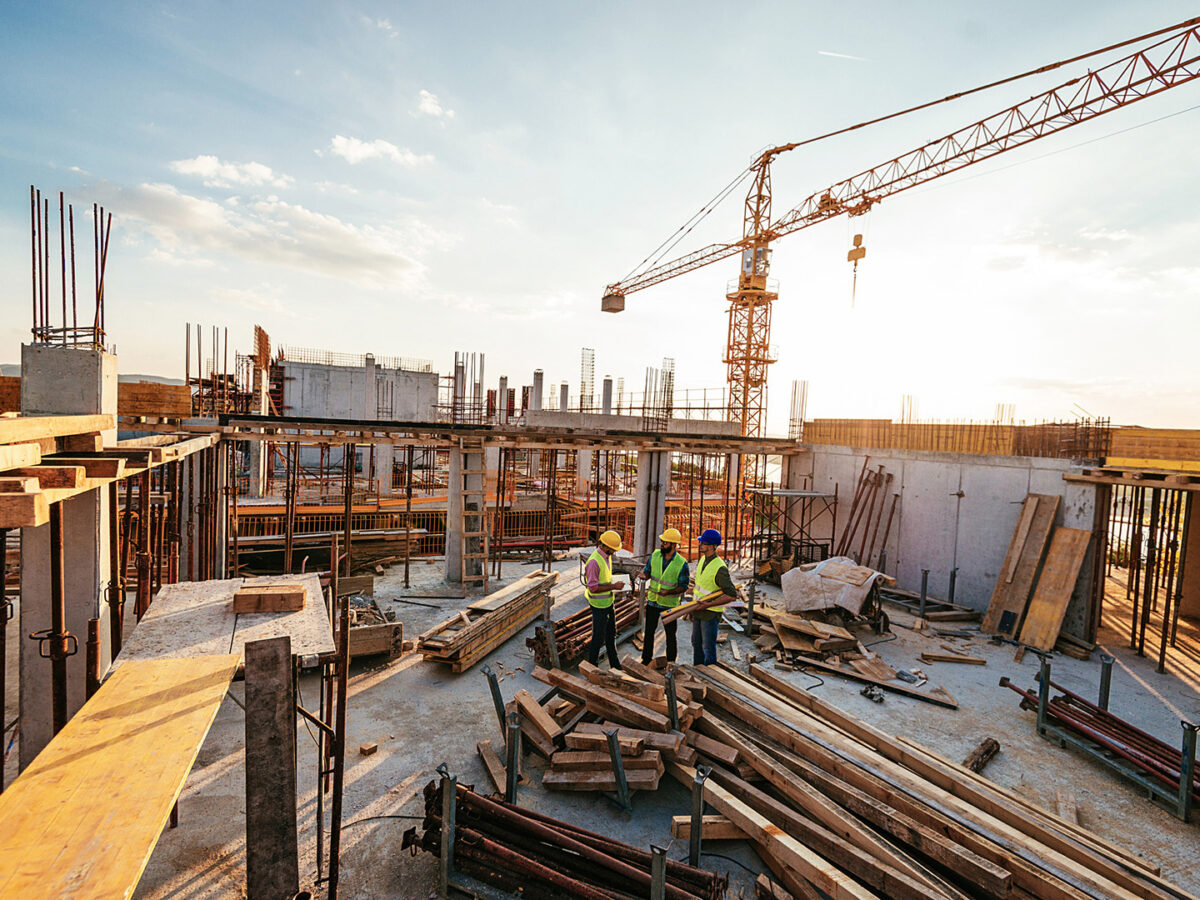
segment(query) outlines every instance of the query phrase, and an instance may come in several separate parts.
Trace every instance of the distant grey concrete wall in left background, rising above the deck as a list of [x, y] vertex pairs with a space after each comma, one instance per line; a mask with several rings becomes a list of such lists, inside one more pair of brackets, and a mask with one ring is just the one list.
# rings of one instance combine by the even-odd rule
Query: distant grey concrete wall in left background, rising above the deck
[[366, 366], [325, 366], [282, 360], [283, 415], [320, 419], [379, 419], [379, 397], [385, 401], [390, 384], [391, 414], [385, 419], [431, 422], [437, 419], [437, 372], [407, 372]]

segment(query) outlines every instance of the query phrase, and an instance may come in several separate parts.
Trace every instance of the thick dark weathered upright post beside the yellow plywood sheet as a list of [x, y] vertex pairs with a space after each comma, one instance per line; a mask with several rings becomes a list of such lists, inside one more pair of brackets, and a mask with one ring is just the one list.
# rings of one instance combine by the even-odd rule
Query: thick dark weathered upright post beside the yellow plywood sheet
[[246, 896], [300, 889], [292, 638], [246, 643]]

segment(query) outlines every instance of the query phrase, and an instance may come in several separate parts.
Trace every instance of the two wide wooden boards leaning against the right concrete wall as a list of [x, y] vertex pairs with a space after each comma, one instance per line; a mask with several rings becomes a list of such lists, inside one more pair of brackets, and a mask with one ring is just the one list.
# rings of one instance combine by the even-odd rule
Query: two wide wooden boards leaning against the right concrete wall
[[983, 630], [1033, 649], [1057, 649], [1087, 659], [1088, 646], [1064, 635], [1062, 625], [1092, 533], [1055, 526], [1060, 502], [1057, 494], [1031, 493], [1025, 498]]

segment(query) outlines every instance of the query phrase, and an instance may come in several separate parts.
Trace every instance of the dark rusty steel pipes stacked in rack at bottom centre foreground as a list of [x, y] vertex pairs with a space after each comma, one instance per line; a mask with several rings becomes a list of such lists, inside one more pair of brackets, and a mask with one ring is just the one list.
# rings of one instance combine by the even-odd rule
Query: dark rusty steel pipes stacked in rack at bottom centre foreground
[[[455, 804], [454, 865], [462, 872], [533, 900], [647, 896], [652, 853], [530, 810], [493, 800], [463, 785]], [[442, 788], [425, 787], [425, 830], [403, 847], [439, 853]], [[668, 900], [718, 900], [728, 878], [666, 860]]]

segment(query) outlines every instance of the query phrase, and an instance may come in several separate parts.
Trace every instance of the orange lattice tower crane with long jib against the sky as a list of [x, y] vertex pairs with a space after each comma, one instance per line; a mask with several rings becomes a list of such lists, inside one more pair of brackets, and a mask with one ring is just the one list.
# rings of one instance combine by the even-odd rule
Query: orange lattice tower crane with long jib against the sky
[[[1164, 34], [1166, 36], [1162, 37]], [[650, 268], [643, 269], [640, 265], [624, 280], [605, 288], [600, 308], [604, 312], [620, 312], [625, 308], [625, 298], [629, 294], [740, 254], [742, 270], [737, 289], [726, 294], [730, 307], [724, 362], [728, 383], [728, 415], [731, 421], [739, 424], [742, 434], [761, 437], [766, 425], [767, 370], [775, 361], [770, 353], [770, 308], [779, 298], [767, 278], [770, 272], [772, 242], [836, 216], [860, 216], [886, 197], [959, 172], [967, 166], [1015, 150], [1200, 77], [1200, 18], [1122, 41], [1072, 60], [1043, 66], [1034, 72], [1049, 71], [1066, 62], [1074, 62], [1151, 37], [1160, 40], [1102, 68], [1088, 71], [1022, 103], [1002, 109], [916, 150], [817, 191], [775, 220], [772, 220], [770, 210], [770, 164], [781, 154], [810, 142], [769, 148], [754, 160], [743, 175], [743, 178], [749, 175], [751, 181], [745, 199], [740, 240], [710, 244], [668, 263], [652, 263]], [[985, 86], [995, 86], [1020, 77], [1024, 76]], [[953, 95], [946, 100], [960, 96], [964, 95]], [[924, 106], [932, 103], [913, 109]], [[883, 116], [887, 118], [893, 116]], [[842, 131], [851, 130], [853, 128]]]

